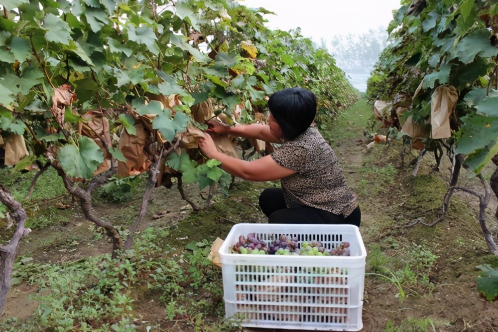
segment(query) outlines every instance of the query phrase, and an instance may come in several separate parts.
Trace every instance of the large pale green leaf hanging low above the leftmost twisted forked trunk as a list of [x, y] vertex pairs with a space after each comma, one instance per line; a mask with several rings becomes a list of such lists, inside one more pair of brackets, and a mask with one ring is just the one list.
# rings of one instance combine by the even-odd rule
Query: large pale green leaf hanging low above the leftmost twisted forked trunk
[[91, 178], [104, 162], [104, 154], [97, 143], [86, 136], [80, 136], [78, 145], [66, 144], [60, 148], [59, 164], [69, 177]]

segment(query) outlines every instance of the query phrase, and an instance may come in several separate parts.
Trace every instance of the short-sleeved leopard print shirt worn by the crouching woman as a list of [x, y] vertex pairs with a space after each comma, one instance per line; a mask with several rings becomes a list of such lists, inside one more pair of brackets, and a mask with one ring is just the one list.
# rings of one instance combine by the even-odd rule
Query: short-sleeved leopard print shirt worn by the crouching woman
[[296, 171], [281, 179], [287, 207], [310, 206], [347, 217], [358, 206], [336, 154], [316, 128], [285, 142], [271, 157]]

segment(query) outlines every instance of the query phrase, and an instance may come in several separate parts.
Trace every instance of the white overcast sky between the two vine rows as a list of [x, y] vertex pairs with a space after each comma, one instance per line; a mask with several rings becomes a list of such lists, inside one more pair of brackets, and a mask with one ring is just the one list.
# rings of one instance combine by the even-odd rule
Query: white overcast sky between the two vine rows
[[305, 37], [320, 43], [336, 34], [362, 34], [370, 28], [387, 27], [400, 0], [240, 0], [246, 7], [263, 7], [271, 29], [301, 28]]

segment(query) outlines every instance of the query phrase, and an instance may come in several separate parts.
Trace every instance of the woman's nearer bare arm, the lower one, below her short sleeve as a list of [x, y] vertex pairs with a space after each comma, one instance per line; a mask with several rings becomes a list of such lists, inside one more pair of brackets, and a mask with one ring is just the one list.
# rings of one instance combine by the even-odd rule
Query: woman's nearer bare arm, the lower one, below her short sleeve
[[248, 162], [218, 152], [211, 136], [199, 141], [199, 148], [209, 159], [221, 162], [221, 168], [227, 173], [249, 181], [271, 181], [290, 176], [296, 171], [278, 165], [271, 156], [265, 156]]

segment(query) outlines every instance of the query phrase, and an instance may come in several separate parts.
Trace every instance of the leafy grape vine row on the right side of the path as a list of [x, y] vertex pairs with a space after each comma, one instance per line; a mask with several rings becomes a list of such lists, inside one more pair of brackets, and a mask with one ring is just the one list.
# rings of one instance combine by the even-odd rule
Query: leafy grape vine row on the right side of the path
[[[447, 151], [453, 176], [443, 215], [454, 190], [478, 196], [486, 242], [498, 255], [484, 215], [491, 189], [498, 195], [498, 171], [491, 186], [481, 175], [490, 161], [498, 166], [498, 4], [492, 0], [402, 4], [388, 27], [390, 44], [369, 78], [368, 97], [391, 102], [390, 116], [397, 129], [408, 119], [418, 125], [417, 133], [410, 136], [423, 149], [421, 156], [434, 152], [439, 166], [441, 152]], [[450, 110], [451, 132], [435, 139], [431, 106], [443, 87], [455, 95], [455, 107]], [[481, 179], [484, 195], [457, 186], [461, 166]], [[441, 220], [442, 216], [431, 225]]]

